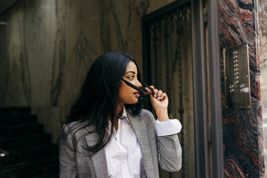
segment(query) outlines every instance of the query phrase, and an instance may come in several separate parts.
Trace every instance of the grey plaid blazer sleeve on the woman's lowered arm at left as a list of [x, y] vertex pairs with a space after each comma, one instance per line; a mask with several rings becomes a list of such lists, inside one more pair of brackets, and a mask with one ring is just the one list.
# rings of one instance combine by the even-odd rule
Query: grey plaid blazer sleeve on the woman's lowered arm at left
[[72, 134], [63, 126], [63, 133], [67, 134], [65, 140], [59, 143], [59, 178], [76, 178], [75, 149], [72, 142]]

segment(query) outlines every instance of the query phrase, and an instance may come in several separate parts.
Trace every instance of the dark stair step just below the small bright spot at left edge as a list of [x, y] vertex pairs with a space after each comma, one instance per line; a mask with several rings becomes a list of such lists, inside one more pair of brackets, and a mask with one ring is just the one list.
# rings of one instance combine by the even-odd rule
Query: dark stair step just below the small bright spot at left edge
[[50, 156], [58, 156], [57, 144], [45, 144], [20, 149], [9, 150], [8, 154], [0, 157], [0, 167], [8, 164], [41, 159]]

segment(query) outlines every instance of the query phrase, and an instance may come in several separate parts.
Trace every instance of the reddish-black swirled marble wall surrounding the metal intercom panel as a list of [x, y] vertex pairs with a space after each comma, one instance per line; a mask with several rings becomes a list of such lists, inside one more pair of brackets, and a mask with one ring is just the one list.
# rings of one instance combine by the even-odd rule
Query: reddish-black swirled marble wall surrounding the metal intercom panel
[[[256, 19], [257, 0], [219, 0], [224, 175], [226, 178], [265, 177]], [[249, 45], [251, 109], [226, 109], [222, 50], [229, 46], [244, 44]]]

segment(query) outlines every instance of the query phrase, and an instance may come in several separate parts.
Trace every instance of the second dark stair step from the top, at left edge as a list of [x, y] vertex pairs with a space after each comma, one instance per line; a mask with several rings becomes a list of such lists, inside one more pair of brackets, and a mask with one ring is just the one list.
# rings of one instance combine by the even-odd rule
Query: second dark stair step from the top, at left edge
[[36, 123], [36, 115], [0, 116], [0, 126]]

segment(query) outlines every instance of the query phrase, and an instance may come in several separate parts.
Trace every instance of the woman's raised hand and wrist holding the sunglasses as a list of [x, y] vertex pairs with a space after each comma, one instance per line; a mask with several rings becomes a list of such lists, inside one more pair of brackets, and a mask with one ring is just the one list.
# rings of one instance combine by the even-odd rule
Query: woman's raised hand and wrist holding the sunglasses
[[[154, 90], [153, 93], [150, 94], [150, 102], [154, 109], [156, 110], [156, 114], [158, 120], [160, 122], [168, 121], [168, 96], [166, 93], [163, 93], [161, 90], [155, 89], [154, 86], [150, 86], [151, 89]], [[146, 88], [147, 91], [150, 89]]]

